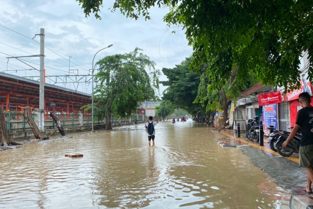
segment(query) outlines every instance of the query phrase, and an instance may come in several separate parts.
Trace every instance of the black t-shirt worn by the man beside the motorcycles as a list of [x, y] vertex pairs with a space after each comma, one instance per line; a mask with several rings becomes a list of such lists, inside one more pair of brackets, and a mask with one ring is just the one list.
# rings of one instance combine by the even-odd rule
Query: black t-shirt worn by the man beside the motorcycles
[[300, 146], [313, 144], [313, 107], [303, 107], [295, 121], [301, 127]]

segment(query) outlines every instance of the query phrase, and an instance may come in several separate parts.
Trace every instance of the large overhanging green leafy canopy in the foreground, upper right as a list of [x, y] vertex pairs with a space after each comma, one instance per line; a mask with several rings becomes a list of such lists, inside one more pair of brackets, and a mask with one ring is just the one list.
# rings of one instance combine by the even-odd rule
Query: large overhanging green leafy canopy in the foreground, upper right
[[[77, 1], [86, 16], [100, 18], [102, 0]], [[193, 68], [207, 64], [213, 87], [226, 84], [235, 66], [236, 79], [245, 80], [249, 69], [263, 84], [287, 87], [299, 80], [302, 51], [308, 52], [312, 81], [312, 0], [116, 0], [111, 10], [150, 19], [154, 6], [170, 8], [164, 21], [186, 29]]]

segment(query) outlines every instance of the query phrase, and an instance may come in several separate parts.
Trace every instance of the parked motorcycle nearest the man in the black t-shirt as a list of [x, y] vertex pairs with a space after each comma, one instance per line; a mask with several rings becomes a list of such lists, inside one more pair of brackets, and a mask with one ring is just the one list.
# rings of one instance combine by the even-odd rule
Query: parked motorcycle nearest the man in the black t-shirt
[[281, 136], [277, 139], [277, 142], [275, 144], [277, 147], [277, 152], [284, 157], [288, 157], [293, 153], [299, 153], [301, 134], [297, 133], [295, 137], [290, 140], [287, 147], [284, 148], [283, 143], [287, 140], [290, 133], [285, 132], [279, 133], [281, 134]]

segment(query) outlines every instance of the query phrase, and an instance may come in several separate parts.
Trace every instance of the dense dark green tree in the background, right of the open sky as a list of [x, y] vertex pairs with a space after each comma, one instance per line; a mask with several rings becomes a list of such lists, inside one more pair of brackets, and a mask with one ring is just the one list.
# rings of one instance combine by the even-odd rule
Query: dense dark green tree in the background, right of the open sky
[[193, 103], [198, 95], [200, 76], [189, 68], [192, 58], [186, 58], [181, 64], [174, 68], [163, 68], [162, 72], [168, 81], [160, 81], [168, 86], [163, 92], [163, 100], [170, 101], [175, 108], [182, 108], [195, 115], [200, 105]]

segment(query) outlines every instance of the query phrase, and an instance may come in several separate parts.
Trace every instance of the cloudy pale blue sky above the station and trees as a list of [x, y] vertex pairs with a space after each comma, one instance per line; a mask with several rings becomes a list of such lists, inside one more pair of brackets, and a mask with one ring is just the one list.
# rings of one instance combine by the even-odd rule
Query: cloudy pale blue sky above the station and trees
[[[152, 8], [151, 20], [141, 18], [135, 21], [118, 11], [111, 13], [108, 8], [114, 0], [103, 2], [102, 20], [96, 20], [93, 15], [85, 18], [75, 0], [0, 0], [0, 52], [12, 56], [39, 54], [39, 44], [29, 38], [44, 28], [45, 46], [59, 54], [45, 49], [46, 75], [69, 74], [69, 56], [72, 57], [70, 69], [78, 69], [80, 75], [88, 74], [95, 53], [109, 44], [113, 46], [99, 52], [95, 60], [106, 55], [128, 53], [139, 47], [156, 62], [156, 68], [162, 70], [163, 67], [174, 67], [191, 55], [192, 48], [187, 44], [184, 31], [172, 34], [173, 29], [168, 30], [162, 21], [168, 11], [166, 8]], [[34, 40], [39, 42], [39, 36]], [[0, 71], [18, 76], [39, 76], [35, 70], [6, 71], [8, 55], [0, 53]], [[38, 57], [24, 59], [33, 62], [27, 63], [39, 69]], [[18, 60], [10, 59], [8, 62], [8, 70], [29, 68]], [[166, 80], [166, 77], [162, 76], [160, 80]], [[46, 79], [46, 82], [49, 80]], [[73, 84], [57, 85], [74, 88]], [[164, 90], [165, 87], [160, 86], [161, 93]], [[91, 84], [80, 84], [78, 91], [91, 93]]]

